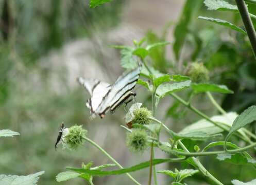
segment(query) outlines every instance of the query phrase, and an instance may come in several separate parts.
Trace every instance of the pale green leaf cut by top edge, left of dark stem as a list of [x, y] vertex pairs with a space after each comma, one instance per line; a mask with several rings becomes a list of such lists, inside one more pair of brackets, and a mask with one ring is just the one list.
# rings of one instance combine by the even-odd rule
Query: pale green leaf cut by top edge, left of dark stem
[[238, 11], [237, 6], [222, 0], [205, 0], [203, 3], [208, 7], [208, 10]]

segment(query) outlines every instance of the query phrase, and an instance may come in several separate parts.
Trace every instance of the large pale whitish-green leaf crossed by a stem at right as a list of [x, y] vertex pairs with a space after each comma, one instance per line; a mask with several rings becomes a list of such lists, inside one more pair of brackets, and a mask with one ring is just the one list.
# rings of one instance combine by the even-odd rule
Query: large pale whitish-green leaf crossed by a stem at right
[[[218, 122], [218, 123], [222, 123], [224, 126], [225, 125], [231, 126], [232, 122], [235, 120], [236, 117], [237, 117], [237, 114], [231, 112], [231, 113], [227, 113], [226, 115], [213, 116], [213, 117], [211, 117], [211, 120]], [[227, 128], [229, 128], [229, 127], [227, 127]], [[213, 123], [211, 123], [205, 119], [201, 119], [201, 120], [183, 128], [183, 130], [181, 132], [179, 132], [179, 134], [189, 134], [191, 132], [196, 132], [196, 131], [201, 131], [201, 132], [207, 133], [209, 135], [214, 135], [214, 134], [223, 132], [223, 130], [221, 128], [215, 126]]]

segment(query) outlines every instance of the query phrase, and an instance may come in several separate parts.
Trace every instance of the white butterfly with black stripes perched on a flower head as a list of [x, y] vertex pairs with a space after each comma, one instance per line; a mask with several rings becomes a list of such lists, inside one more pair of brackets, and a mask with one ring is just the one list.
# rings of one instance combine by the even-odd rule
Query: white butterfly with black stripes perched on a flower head
[[129, 97], [135, 97], [132, 89], [135, 87], [141, 73], [141, 66], [124, 72], [117, 78], [113, 85], [97, 79], [77, 78], [77, 81], [89, 92], [91, 98], [88, 99], [86, 105], [91, 110], [91, 118], [97, 115], [104, 118], [105, 114], [110, 110], [112, 114], [114, 110]]

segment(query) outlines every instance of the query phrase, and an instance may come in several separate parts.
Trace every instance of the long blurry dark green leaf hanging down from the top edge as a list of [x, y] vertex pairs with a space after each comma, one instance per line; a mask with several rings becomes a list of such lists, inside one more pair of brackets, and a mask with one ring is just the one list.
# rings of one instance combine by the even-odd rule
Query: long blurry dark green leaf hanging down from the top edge
[[180, 50], [183, 47], [187, 33], [189, 33], [190, 30], [189, 27], [194, 20], [196, 12], [200, 9], [202, 2], [202, 0], [187, 0], [183, 7], [183, 12], [181, 13], [178, 24], [176, 25], [174, 30], [175, 42], [173, 45], [173, 49], [176, 59], [179, 59]]

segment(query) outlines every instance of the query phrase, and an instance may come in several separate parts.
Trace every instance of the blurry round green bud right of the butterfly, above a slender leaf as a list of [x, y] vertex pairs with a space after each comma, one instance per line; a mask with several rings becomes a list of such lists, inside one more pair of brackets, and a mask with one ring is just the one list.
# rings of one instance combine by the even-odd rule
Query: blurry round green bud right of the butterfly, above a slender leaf
[[210, 79], [208, 69], [198, 62], [193, 62], [189, 65], [187, 75], [195, 83], [207, 82]]

